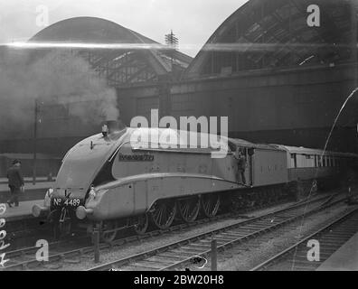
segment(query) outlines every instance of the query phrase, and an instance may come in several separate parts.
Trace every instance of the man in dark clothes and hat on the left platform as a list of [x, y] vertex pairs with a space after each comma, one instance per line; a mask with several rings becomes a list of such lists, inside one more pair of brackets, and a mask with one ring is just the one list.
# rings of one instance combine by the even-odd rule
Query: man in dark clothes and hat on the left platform
[[12, 207], [12, 204], [15, 207], [19, 206], [19, 194], [21, 191], [24, 191], [24, 178], [23, 173], [21, 172], [21, 162], [19, 160], [14, 160], [13, 165], [7, 170], [6, 177], [9, 180], [9, 188], [11, 192], [11, 198], [7, 201], [9, 207]]

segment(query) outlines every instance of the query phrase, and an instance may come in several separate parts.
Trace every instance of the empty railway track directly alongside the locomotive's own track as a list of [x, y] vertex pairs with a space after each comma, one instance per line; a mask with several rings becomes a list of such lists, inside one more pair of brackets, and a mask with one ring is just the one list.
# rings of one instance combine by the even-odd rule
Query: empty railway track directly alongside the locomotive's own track
[[89, 271], [110, 269], [162, 271], [180, 269], [193, 262], [198, 256], [209, 256], [213, 238], [217, 241], [218, 250], [224, 250], [274, 229], [282, 228], [303, 216], [325, 210], [345, 200], [333, 200], [330, 197], [324, 199], [302, 202], [264, 216], [238, 221], [230, 226], [224, 226], [162, 247], [156, 247], [134, 256], [127, 256], [114, 262], [92, 267]]

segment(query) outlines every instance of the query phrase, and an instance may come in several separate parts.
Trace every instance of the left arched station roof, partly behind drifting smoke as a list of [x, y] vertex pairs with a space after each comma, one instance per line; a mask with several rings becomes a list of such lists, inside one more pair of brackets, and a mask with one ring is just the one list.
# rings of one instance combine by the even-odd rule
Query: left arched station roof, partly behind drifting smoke
[[[153, 44], [149, 49], [118, 47], [114, 49], [76, 48], [92, 67], [103, 73], [108, 84], [130, 85], [157, 81], [174, 69], [183, 71], [192, 58], [179, 51], [166, 50], [165, 45], [127, 29], [117, 23], [96, 17], [76, 17], [54, 23], [35, 34], [29, 42]], [[37, 51], [36, 55], [43, 51]]]

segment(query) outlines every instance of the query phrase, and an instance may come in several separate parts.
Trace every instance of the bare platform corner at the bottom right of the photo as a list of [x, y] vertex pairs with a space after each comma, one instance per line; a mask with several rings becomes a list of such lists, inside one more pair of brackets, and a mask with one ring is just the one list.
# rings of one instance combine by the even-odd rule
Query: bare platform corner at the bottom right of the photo
[[336, 250], [316, 271], [358, 271], [358, 233]]

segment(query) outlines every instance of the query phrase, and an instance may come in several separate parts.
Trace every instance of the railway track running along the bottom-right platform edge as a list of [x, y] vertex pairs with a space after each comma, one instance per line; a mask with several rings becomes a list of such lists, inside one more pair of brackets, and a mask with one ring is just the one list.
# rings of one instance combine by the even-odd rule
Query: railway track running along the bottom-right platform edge
[[[319, 228], [313, 234], [255, 266], [250, 271], [313, 271], [325, 262], [346, 241], [358, 232], [358, 207], [344, 211], [337, 219]], [[319, 261], [307, 258], [307, 242], [319, 241]]]

